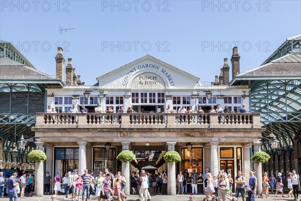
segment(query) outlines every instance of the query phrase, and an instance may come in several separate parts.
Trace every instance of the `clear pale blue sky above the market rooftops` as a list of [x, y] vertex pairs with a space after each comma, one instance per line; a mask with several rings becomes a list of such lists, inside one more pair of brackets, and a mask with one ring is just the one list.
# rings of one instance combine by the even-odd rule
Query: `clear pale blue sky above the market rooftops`
[[235, 44], [245, 72], [300, 34], [300, 2], [1, 0], [0, 39], [55, 75], [57, 46], [65, 46], [59, 26], [75, 28], [67, 32], [67, 58], [86, 85], [146, 54], [203, 83], [220, 74], [224, 58], [230, 65]]

